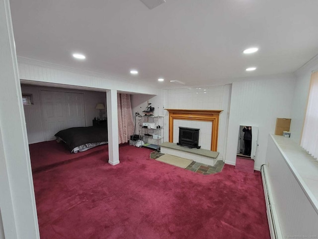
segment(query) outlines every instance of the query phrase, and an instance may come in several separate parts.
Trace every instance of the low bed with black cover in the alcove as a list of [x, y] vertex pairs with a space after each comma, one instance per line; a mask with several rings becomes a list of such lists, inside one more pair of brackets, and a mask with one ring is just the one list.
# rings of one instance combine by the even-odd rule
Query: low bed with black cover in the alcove
[[96, 126], [67, 128], [57, 132], [55, 136], [58, 142], [66, 143], [71, 153], [108, 143], [107, 128]]

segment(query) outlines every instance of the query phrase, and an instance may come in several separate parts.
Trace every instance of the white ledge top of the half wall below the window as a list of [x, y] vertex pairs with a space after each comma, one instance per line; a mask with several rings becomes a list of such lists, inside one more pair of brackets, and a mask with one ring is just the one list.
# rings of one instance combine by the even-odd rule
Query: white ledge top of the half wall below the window
[[318, 161], [290, 138], [271, 137], [318, 214]]

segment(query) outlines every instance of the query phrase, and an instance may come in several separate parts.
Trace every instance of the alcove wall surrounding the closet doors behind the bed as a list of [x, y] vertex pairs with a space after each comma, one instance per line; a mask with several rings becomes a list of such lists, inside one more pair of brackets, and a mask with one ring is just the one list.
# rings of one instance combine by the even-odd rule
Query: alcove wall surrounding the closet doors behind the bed
[[84, 94], [85, 126], [92, 125], [92, 119], [97, 117], [99, 110], [95, 109], [97, 103], [103, 103], [106, 108], [106, 93], [95, 91], [82, 91], [57, 87], [44, 87], [34, 85], [21, 85], [23, 94], [32, 94], [34, 105], [23, 106], [25, 114], [28, 142], [37, 143], [44, 140], [43, 119], [41, 114], [40, 91], [58, 91]]

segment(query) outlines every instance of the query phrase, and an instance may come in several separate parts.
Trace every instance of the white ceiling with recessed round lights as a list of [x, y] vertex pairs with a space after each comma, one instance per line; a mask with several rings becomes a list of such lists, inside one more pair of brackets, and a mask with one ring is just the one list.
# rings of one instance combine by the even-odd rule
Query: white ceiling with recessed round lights
[[[166, 0], [152, 10], [140, 0], [10, 5], [18, 56], [162, 88], [290, 73], [318, 54], [317, 0]], [[251, 46], [259, 51], [242, 54]]]

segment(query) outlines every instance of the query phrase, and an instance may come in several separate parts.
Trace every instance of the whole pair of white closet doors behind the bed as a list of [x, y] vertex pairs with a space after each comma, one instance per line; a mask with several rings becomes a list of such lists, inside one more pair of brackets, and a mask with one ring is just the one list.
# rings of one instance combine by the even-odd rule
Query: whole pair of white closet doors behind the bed
[[41, 91], [41, 111], [47, 141], [62, 129], [85, 126], [83, 94]]

